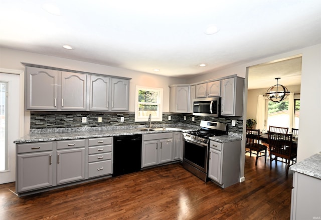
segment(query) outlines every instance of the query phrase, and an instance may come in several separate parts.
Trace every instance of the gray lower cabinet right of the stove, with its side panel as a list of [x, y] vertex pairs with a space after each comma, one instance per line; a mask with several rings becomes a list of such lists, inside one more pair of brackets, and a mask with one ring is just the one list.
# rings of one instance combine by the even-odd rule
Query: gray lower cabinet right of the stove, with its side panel
[[210, 141], [208, 177], [222, 188], [239, 182], [241, 141]]

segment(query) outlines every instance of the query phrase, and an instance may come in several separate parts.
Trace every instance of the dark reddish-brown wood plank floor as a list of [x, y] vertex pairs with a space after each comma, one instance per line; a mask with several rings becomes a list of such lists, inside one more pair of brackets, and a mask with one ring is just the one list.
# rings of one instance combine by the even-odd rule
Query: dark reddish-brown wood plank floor
[[289, 219], [292, 171], [254, 159], [226, 189], [179, 163], [20, 198], [2, 184], [0, 219]]

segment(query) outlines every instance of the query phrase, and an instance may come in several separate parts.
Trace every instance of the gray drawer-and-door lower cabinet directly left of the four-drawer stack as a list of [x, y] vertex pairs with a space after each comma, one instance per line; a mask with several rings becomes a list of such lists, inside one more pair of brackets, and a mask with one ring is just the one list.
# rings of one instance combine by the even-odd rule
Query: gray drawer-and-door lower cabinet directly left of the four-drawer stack
[[57, 184], [85, 179], [85, 139], [57, 141]]

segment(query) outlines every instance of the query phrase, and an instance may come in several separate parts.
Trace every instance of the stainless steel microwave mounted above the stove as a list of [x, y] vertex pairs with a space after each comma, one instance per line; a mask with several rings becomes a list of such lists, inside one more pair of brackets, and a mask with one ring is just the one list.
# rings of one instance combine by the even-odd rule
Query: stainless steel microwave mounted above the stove
[[193, 100], [193, 115], [220, 116], [221, 98], [201, 98]]

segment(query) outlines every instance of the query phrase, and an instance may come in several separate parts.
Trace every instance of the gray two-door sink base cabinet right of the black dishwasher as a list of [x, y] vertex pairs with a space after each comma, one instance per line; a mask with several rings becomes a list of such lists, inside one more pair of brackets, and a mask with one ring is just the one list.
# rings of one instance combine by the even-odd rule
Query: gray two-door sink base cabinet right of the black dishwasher
[[142, 138], [142, 168], [172, 161], [173, 132], [144, 134]]

